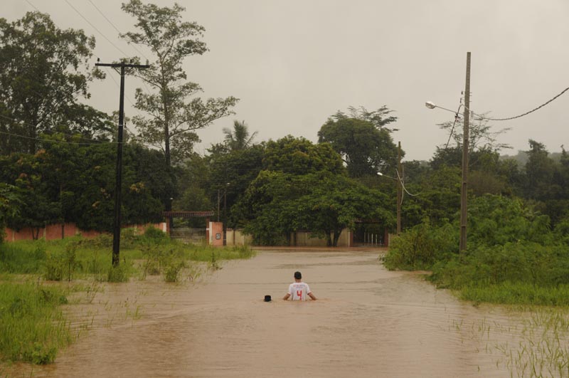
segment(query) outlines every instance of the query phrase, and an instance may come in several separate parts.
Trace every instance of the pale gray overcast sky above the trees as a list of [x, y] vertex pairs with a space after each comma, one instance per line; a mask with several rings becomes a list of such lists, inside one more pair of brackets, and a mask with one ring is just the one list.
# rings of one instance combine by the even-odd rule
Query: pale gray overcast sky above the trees
[[[33, 4], [60, 28], [83, 28], [95, 36], [93, 63], [97, 57], [110, 62], [122, 53], [137, 55], [89, 0], [67, 1], [2, 0], [0, 16], [14, 21], [33, 11]], [[122, 1], [91, 1], [120, 31], [133, 30], [134, 19], [120, 10]], [[405, 159], [430, 159], [448, 137], [437, 124], [453, 115], [428, 110], [425, 101], [457, 109], [467, 51], [472, 52], [474, 112], [490, 112], [489, 117], [496, 118], [519, 115], [569, 87], [567, 0], [178, 3], [186, 7], [186, 21], [206, 28], [203, 41], [210, 49], [186, 59], [189, 80], [203, 87], [203, 97], [240, 98], [236, 115], [198, 132], [203, 140], [198, 152], [221, 142], [223, 127], [232, 127], [235, 119], [245, 120], [251, 132], [257, 131], [257, 141], [294, 135], [316, 142], [321, 125], [337, 110], [386, 105], [398, 117], [394, 127], [400, 131], [393, 133], [393, 140], [401, 142]], [[137, 112], [130, 103], [137, 86], [134, 79], [127, 80], [127, 116]], [[106, 112], [117, 110], [119, 90], [110, 75], [92, 84], [91, 93], [90, 105]], [[491, 122], [495, 130], [512, 129], [499, 139], [514, 147], [503, 153], [528, 149], [530, 138], [550, 152], [563, 144], [569, 149], [569, 127], [563, 116], [568, 105], [569, 91], [531, 115]]]

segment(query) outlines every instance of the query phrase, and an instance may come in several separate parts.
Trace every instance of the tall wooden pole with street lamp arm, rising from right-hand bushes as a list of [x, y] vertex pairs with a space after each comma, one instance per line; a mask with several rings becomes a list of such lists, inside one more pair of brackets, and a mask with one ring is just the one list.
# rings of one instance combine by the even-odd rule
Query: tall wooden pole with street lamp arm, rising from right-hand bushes
[[470, 116], [470, 52], [467, 53], [467, 78], [464, 85], [464, 130], [462, 139], [462, 187], [460, 190], [459, 251], [467, 248], [467, 182], [468, 182], [468, 122]]

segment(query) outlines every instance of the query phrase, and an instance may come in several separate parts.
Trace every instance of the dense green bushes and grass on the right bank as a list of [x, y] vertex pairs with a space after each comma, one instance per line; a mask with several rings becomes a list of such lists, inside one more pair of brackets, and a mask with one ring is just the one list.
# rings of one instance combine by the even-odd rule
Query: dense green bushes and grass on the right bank
[[434, 283], [474, 302], [569, 305], [566, 221], [550, 229], [548, 216], [499, 195], [469, 205], [466, 251], [457, 250], [457, 222], [425, 221], [395, 239], [385, 266], [430, 270]]

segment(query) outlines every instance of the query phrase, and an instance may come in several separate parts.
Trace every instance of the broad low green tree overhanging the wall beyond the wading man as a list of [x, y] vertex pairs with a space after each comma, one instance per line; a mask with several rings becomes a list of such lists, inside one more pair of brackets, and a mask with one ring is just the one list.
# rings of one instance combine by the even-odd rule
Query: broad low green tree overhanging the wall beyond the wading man
[[385, 211], [385, 194], [341, 174], [321, 171], [303, 175], [262, 171], [237, 209], [243, 212], [245, 232], [261, 244], [291, 243], [294, 231], [307, 229], [337, 246], [343, 229], [356, 219], [379, 219], [393, 226]]

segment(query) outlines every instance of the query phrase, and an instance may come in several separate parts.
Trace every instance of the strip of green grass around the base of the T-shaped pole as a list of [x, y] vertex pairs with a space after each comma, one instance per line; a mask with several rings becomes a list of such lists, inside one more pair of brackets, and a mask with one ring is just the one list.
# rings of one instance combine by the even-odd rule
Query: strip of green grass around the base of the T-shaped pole
[[[80, 237], [56, 241], [17, 241], [0, 243], [0, 273], [40, 274], [47, 280], [73, 280], [95, 276], [97, 280], [119, 281], [136, 275], [137, 261], [149, 256], [160, 261], [161, 268], [169, 262], [223, 261], [251, 258], [255, 251], [247, 246], [216, 248], [195, 246], [169, 239], [164, 233], [127, 236], [121, 241], [121, 270], [111, 270], [112, 238], [95, 239]], [[167, 260], [167, 261], [166, 261]]]

